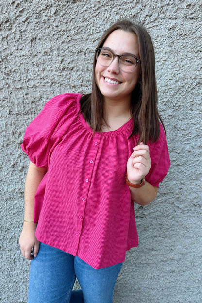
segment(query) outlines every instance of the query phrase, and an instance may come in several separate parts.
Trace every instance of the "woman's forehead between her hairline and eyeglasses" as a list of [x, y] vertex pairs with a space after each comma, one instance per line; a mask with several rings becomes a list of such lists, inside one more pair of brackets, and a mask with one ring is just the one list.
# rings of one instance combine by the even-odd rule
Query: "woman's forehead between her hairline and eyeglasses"
[[103, 47], [108, 47], [116, 54], [132, 53], [139, 54], [137, 37], [134, 33], [125, 32], [123, 30], [115, 30], [104, 41]]

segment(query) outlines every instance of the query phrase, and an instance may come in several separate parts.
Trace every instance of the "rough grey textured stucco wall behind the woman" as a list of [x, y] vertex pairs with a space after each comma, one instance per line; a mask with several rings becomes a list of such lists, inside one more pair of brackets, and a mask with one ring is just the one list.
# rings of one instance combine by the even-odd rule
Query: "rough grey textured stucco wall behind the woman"
[[202, 2], [1, 0], [2, 303], [27, 302], [29, 261], [18, 246], [29, 163], [20, 149], [25, 127], [54, 95], [90, 91], [97, 42], [123, 17], [143, 24], [154, 42], [171, 168], [157, 199], [135, 205], [139, 246], [127, 252], [114, 302], [202, 302]]

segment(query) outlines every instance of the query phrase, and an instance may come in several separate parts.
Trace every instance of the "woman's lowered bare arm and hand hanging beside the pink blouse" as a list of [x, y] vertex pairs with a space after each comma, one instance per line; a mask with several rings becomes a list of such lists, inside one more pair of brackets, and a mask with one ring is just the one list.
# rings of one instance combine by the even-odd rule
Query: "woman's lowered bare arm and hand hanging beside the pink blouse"
[[[34, 196], [38, 185], [47, 172], [47, 168], [38, 168], [32, 162], [28, 169], [25, 181], [25, 214], [24, 220], [33, 220], [34, 218]], [[34, 247], [33, 254], [37, 255], [39, 249], [39, 241], [35, 237], [36, 223], [24, 222], [22, 233], [19, 238], [20, 249], [22, 255], [28, 260], [33, 259], [31, 255], [32, 248]]]

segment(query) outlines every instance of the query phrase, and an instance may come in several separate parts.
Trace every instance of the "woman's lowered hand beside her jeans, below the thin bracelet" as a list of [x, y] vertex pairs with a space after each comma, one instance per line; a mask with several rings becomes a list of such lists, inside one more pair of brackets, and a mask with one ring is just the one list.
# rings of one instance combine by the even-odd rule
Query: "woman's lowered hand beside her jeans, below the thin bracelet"
[[[33, 255], [36, 257], [39, 250], [40, 242], [35, 236], [35, 231], [36, 223], [24, 222], [24, 226], [19, 238], [19, 245], [23, 257], [28, 260], [32, 260]], [[33, 255], [31, 253], [33, 253]]]

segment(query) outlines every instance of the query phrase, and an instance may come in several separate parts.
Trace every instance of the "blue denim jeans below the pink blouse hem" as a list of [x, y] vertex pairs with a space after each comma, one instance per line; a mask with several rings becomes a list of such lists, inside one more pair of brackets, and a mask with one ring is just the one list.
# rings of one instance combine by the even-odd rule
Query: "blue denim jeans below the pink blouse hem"
[[[94, 269], [79, 257], [40, 243], [31, 261], [29, 303], [112, 303], [123, 263]], [[72, 291], [75, 279], [82, 290]]]

